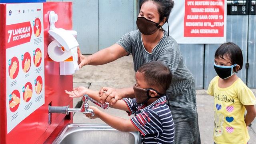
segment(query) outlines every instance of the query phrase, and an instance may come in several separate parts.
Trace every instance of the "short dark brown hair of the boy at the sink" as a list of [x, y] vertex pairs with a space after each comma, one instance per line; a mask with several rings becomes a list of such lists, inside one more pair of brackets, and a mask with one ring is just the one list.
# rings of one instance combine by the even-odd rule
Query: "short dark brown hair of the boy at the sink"
[[149, 86], [155, 86], [160, 93], [165, 94], [172, 81], [172, 74], [169, 68], [160, 61], [153, 61], [143, 64], [138, 72], [142, 73], [145, 82]]

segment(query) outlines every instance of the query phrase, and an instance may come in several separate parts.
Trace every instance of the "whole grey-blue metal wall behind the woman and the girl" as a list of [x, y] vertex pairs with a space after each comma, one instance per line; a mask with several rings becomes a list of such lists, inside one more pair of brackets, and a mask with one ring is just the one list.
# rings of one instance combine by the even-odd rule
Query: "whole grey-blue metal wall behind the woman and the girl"
[[[78, 42], [83, 54], [93, 54], [111, 46], [122, 35], [137, 29], [138, 0], [71, 1], [73, 28], [78, 31]], [[255, 23], [255, 15], [227, 16], [227, 41], [236, 43], [242, 49], [244, 65], [238, 76], [249, 88], [256, 88]], [[167, 25], [163, 27], [166, 29]], [[219, 46], [180, 44], [185, 64], [194, 75], [196, 89], [207, 89], [210, 80], [216, 76], [213, 63], [214, 53]], [[245, 68], [246, 62], [249, 63], [248, 70]]]

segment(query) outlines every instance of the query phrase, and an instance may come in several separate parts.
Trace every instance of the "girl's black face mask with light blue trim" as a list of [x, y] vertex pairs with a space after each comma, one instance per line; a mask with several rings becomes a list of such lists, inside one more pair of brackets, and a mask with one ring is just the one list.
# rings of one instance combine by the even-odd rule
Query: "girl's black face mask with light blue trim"
[[222, 79], [229, 78], [235, 72], [233, 72], [233, 68], [236, 67], [236, 64], [233, 64], [232, 66], [220, 66], [214, 63], [214, 69], [218, 76]]

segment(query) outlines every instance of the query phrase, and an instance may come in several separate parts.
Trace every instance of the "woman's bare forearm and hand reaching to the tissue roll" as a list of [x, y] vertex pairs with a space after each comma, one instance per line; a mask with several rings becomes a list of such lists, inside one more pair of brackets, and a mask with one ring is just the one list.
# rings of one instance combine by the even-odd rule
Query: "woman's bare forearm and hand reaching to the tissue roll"
[[124, 50], [119, 44], [114, 44], [108, 48], [104, 48], [88, 57], [85, 57], [78, 50], [78, 62], [79, 68], [85, 65], [102, 65], [112, 62], [118, 58], [128, 55], [128, 52]]

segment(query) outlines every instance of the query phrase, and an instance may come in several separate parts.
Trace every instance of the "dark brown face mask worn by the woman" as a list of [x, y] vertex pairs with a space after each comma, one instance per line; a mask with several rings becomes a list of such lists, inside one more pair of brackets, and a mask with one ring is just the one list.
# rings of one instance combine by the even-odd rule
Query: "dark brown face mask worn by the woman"
[[[156, 23], [151, 20], [148, 20], [144, 17], [138, 17], [136, 24], [140, 32], [144, 35], [151, 35], [154, 34], [159, 28], [162, 26], [159, 26], [161, 22]], [[167, 21], [168, 24], [168, 21]], [[168, 24], [168, 36], [169, 36], [169, 24]]]

